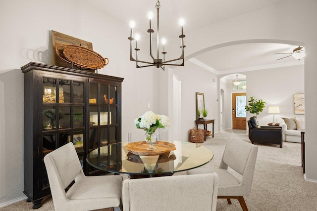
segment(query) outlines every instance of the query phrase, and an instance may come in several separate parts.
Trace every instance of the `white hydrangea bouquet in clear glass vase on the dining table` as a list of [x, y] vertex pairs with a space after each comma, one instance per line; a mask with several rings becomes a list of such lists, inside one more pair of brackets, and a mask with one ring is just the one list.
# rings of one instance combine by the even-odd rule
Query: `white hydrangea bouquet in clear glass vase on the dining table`
[[134, 120], [134, 124], [137, 128], [146, 131], [145, 140], [150, 144], [148, 150], [156, 150], [153, 145], [158, 139], [158, 134], [156, 130], [161, 128], [162, 130], [167, 130], [169, 127], [169, 119], [165, 115], [158, 115], [152, 111], [145, 112], [142, 116]]

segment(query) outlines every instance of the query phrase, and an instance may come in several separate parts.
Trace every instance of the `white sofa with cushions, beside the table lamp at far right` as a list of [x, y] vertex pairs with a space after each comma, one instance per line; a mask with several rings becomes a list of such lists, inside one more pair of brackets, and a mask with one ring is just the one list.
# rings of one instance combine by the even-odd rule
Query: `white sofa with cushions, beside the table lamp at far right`
[[[285, 120], [286, 118], [282, 118], [284, 120], [284, 123], [282, 124], [282, 140], [287, 142], [297, 142], [301, 143], [301, 131], [300, 129], [305, 128], [305, 120], [302, 118], [287, 118], [288, 120]], [[287, 128], [287, 124], [289, 123], [289, 119], [293, 119], [296, 123], [296, 127], [291, 127], [292, 129]], [[286, 122], [286, 123], [285, 123]], [[290, 127], [289, 127], [290, 128]]]

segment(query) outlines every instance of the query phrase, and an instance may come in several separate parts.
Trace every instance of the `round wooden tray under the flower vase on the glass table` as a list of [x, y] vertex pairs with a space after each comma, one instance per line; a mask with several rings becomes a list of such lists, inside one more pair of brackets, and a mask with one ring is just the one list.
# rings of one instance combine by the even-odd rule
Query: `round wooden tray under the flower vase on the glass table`
[[175, 144], [166, 141], [157, 141], [154, 144], [154, 147], [157, 148], [157, 150], [147, 150], [148, 147], [149, 144], [146, 141], [132, 142], [125, 146], [129, 152], [135, 155], [162, 155], [176, 149]]

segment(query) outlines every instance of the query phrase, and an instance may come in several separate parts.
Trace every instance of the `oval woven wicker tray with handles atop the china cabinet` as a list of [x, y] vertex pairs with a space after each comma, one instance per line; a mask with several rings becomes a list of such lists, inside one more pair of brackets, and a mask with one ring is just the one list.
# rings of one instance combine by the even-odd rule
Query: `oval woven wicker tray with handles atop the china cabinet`
[[102, 57], [99, 53], [86, 47], [72, 44], [58, 45], [56, 53], [63, 61], [83, 68], [100, 69], [109, 63], [109, 60]]

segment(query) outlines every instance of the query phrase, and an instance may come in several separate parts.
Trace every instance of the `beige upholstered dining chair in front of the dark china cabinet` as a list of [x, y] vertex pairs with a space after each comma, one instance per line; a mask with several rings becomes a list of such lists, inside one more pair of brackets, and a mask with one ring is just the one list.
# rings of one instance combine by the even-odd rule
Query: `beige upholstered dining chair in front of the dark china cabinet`
[[[122, 177], [85, 176], [73, 143], [44, 157], [55, 211], [88, 211], [120, 205]], [[66, 187], [75, 183], [65, 192]]]

